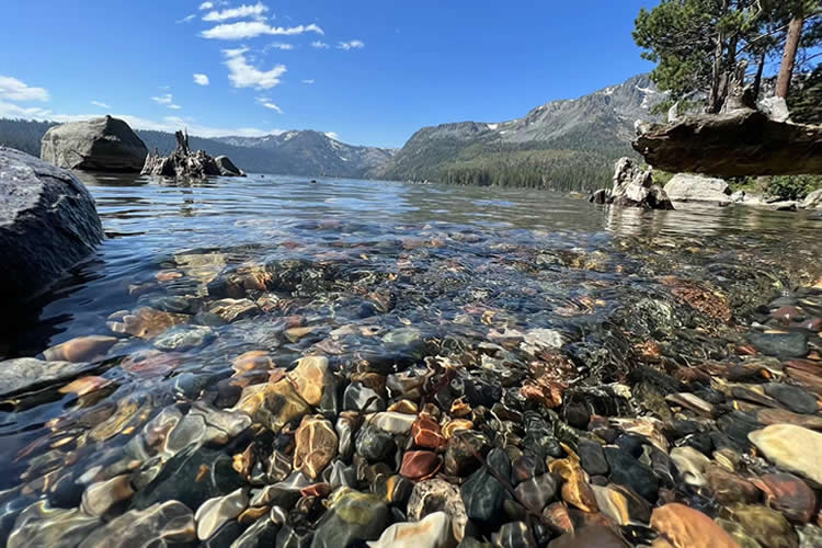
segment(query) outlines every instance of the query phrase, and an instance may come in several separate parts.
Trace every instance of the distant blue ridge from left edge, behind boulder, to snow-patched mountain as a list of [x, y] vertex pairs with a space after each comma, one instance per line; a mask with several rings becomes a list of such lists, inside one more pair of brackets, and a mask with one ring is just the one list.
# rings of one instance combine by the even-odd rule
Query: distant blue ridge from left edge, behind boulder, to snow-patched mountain
[[[55, 122], [0, 118], [0, 145], [39, 157], [39, 145]], [[172, 134], [137, 129], [149, 150], [167, 155], [176, 146]], [[363, 178], [390, 159], [396, 150], [355, 147], [318, 132], [287, 132], [265, 137], [222, 137], [204, 139], [191, 136], [195, 150], [212, 156], [228, 156], [249, 173], [279, 173], [302, 176]]]

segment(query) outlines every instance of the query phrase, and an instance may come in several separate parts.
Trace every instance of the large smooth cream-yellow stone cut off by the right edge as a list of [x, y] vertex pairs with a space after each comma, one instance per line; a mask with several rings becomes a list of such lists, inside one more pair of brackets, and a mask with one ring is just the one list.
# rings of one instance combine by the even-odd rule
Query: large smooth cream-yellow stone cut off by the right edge
[[765, 457], [785, 470], [822, 483], [822, 434], [792, 424], [774, 424], [749, 434]]

